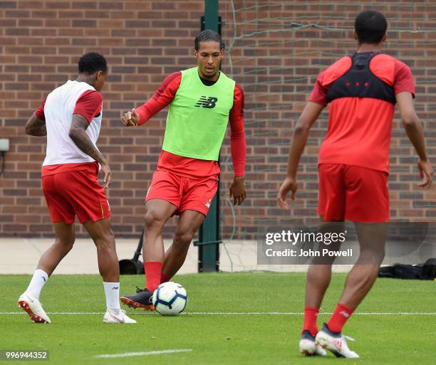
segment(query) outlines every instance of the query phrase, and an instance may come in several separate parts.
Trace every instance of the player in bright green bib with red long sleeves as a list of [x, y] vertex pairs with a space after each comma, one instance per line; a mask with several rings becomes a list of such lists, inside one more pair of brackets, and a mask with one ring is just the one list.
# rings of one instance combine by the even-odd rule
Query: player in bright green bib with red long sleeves
[[[126, 127], [143, 125], [169, 105], [162, 152], [145, 197], [146, 286], [136, 295], [121, 297], [129, 307], [154, 310], [152, 293], [185, 262], [192, 237], [217, 193], [219, 149], [228, 123], [234, 167], [229, 196], [237, 205], [246, 198], [244, 91], [219, 70], [223, 55], [219, 34], [202, 31], [194, 41], [197, 67], [169, 75], [150, 100], [121, 118]], [[162, 230], [173, 215], [180, 218], [165, 252]]]

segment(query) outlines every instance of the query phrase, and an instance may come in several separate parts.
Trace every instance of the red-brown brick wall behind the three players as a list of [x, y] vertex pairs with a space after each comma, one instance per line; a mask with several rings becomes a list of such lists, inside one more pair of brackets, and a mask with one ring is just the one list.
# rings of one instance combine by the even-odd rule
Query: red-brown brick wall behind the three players
[[[378, 9], [390, 22], [387, 51], [408, 63], [415, 74], [417, 110], [434, 155], [436, 129], [430, 121], [435, 117], [431, 100], [436, 94], [436, 6], [428, 1], [383, 4]], [[221, 185], [225, 237], [235, 228], [239, 237], [249, 237], [259, 224], [289, 217], [316, 220], [316, 154], [325, 134], [326, 112], [311, 131], [299, 175], [299, 199], [291, 215], [276, 207], [274, 197], [284, 177], [296, 117], [320, 70], [353, 51], [350, 29], [362, 9], [358, 1], [233, 1], [233, 6], [220, 1], [229, 51], [223, 70], [246, 92], [249, 156], [249, 199], [232, 210], [226, 198], [232, 179], [227, 137]], [[168, 73], [194, 65], [192, 44], [203, 11], [204, 1], [0, 2], [0, 137], [11, 142], [0, 176], [0, 236], [53, 234], [41, 194], [45, 138], [24, 134], [24, 123], [49, 90], [76, 77], [77, 60], [88, 51], [103, 53], [110, 65], [98, 145], [114, 173], [108, 193], [113, 228], [117, 236], [137, 236], [165, 112], [137, 129], [121, 127], [120, 112], [147, 100]], [[309, 24], [316, 26], [301, 28]], [[436, 194], [416, 188], [415, 155], [398, 118], [391, 145], [393, 218], [434, 220]], [[167, 234], [174, 224], [170, 222]]]

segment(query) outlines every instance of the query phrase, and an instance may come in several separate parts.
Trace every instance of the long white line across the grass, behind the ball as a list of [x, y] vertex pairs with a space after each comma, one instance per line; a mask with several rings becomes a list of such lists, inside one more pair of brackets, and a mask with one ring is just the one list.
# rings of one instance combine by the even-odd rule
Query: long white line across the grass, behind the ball
[[[25, 312], [0, 312], [0, 315], [9, 314], [26, 314]], [[85, 314], [105, 314], [105, 312], [47, 312], [47, 314], [61, 314], [61, 315], [85, 315]], [[139, 315], [152, 315], [151, 312], [130, 312], [129, 314]], [[303, 312], [184, 312], [180, 315], [282, 315], [282, 316], [299, 316], [303, 315]], [[320, 315], [331, 315], [332, 312], [320, 312]], [[353, 315], [405, 315], [405, 316], [435, 316], [436, 312], [355, 312]]]

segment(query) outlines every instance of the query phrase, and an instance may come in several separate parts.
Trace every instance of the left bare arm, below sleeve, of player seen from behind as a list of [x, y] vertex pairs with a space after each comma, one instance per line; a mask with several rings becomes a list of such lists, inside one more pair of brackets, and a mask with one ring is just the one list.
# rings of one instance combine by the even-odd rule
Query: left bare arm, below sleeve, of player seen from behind
[[301, 154], [303, 154], [304, 147], [306, 147], [308, 132], [320, 115], [323, 107], [324, 105], [318, 104], [318, 102], [309, 101], [306, 104], [306, 107], [304, 107], [299, 120], [296, 122], [296, 127], [291, 140], [291, 147], [289, 149], [286, 178], [281, 184], [279, 194], [277, 195], [277, 202], [281, 208], [289, 208], [288, 203], [286, 203], [286, 194], [288, 194], [289, 191], [291, 191], [291, 199], [295, 199], [295, 194], [298, 189], [296, 174], [299, 168]]

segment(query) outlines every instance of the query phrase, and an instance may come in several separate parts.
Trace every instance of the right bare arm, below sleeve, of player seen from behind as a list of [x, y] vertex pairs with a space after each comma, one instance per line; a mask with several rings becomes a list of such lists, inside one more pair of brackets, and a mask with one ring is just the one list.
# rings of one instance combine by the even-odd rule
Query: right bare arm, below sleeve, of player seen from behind
[[408, 91], [400, 92], [396, 95], [398, 107], [400, 108], [401, 119], [406, 134], [412, 142], [413, 147], [420, 157], [418, 161], [418, 169], [420, 177], [424, 179], [418, 186], [430, 187], [432, 185], [433, 169], [425, 151], [425, 139], [422, 133], [422, 125], [415, 112], [413, 105], [412, 94]]

